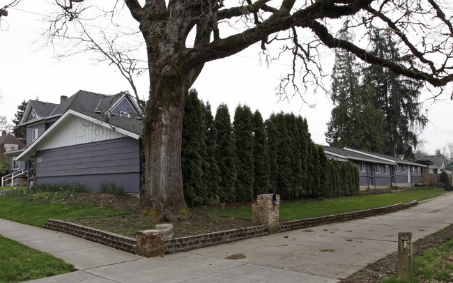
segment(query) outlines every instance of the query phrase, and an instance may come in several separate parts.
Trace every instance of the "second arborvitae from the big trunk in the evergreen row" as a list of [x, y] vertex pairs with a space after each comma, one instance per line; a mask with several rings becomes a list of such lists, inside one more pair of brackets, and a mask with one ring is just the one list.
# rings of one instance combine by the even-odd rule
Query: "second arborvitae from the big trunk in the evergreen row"
[[211, 112], [209, 102], [206, 102], [206, 106], [202, 105], [202, 107], [206, 132], [204, 137], [204, 143], [206, 145], [206, 155], [204, 155], [204, 160], [206, 162], [203, 163], [204, 185], [206, 185], [206, 190], [208, 191], [208, 198], [217, 199], [220, 194], [220, 169], [217, 165], [217, 160], [215, 159], [217, 148], [215, 139], [217, 137], [217, 129], [214, 125], [214, 117]]

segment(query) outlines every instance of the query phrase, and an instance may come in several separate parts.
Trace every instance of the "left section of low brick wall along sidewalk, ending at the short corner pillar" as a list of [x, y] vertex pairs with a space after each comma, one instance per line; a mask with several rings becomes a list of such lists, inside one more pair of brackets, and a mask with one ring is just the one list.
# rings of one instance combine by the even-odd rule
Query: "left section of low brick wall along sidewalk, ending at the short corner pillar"
[[137, 243], [137, 240], [135, 240], [135, 238], [121, 236], [91, 227], [85, 227], [83, 225], [53, 219], [48, 219], [44, 224], [44, 228], [60, 231], [85, 240], [91, 240], [95, 243], [108, 245], [109, 247], [114, 247], [118, 250], [123, 250], [125, 252], [131, 252], [132, 254], [135, 254], [135, 245]]

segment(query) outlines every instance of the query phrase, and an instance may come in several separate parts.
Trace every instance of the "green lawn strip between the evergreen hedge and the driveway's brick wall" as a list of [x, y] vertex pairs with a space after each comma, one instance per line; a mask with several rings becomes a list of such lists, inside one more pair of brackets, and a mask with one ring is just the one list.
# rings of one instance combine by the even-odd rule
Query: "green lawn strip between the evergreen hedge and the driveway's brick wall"
[[[280, 204], [280, 220], [296, 220], [350, 211], [361, 211], [369, 208], [390, 206], [400, 202], [406, 203], [413, 200], [422, 201], [424, 199], [438, 197], [440, 194], [444, 193], [444, 189], [412, 190], [387, 194], [341, 197], [337, 199], [325, 199], [323, 201], [293, 201]], [[214, 213], [215, 215], [224, 217], [252, 219], [252, 208], [250, 206], [216, 209], [215, 211], [209, 211], [208, 213]]]

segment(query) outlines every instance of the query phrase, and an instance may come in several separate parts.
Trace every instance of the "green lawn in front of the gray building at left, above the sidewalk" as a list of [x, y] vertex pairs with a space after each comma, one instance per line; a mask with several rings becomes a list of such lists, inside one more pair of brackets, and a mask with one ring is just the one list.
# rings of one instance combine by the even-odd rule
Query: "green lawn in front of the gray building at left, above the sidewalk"
[[43, 227], [49, 218], [74, 219], [121, 214], [124, 212], [93, 204], [29, 202], [14, 197], [0, 197], [0, 218], [36, 227]]

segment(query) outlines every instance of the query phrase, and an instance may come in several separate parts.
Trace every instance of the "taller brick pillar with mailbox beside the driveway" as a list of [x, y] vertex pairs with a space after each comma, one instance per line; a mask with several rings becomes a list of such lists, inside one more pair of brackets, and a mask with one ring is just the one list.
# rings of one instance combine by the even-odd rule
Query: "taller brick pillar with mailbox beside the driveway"
[[[280, 195], [275, 195], [275, 201], [272, 199], [274, 194], [260, 194], [252, 204], [252, 223], [266, 224], [269, 234], [279, 231], [279, 202]], [[275, 203], [277, 202], [277, 204]]]

